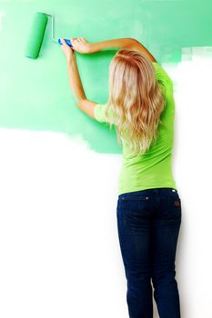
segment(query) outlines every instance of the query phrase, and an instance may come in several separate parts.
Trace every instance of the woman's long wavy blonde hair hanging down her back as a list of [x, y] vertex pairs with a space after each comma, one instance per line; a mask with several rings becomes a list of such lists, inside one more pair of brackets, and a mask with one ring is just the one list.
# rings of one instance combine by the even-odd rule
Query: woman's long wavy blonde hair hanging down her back
[[[128, 139], [133, 154], [143, 154], [156, 141], [160, 114], [166, 103], [151, 61], [140, 52], [121, 49], [109, 65], [106, 118], [116, 126], [118, 143]], [[111, 119], [109, 109], [114, 116]]]

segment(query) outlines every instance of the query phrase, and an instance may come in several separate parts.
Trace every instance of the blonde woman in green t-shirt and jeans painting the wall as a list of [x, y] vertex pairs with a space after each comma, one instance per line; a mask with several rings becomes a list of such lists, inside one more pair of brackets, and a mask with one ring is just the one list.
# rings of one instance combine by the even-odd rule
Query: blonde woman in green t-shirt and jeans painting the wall
[[[123, 144], [116, 216], [129, 317], [153, 317], [153, 284], [160, 318], [179, 318], [175, 257], [181, 201], [171, 167], [172, 80], [136, 39], [87, 43], [71, 38], [73, 49], [61, 41], [77, 106], [99, 122], [115, 124]], [[86, 99], [74, 51], [89, 54], [108, 47], [120, 49], [109, 68], [109, 100], [96, 104]]]

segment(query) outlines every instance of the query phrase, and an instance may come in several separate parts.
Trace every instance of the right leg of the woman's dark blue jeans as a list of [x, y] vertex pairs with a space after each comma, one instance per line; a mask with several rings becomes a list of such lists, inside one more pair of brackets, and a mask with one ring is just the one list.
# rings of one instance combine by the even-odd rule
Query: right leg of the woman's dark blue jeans
[[177, 238], [181, 224], [181, 202], [177, 194], [160, 197], [151, 235], [151, 271], [154, 298], [160, 318], [180, 318], [175, 278]]

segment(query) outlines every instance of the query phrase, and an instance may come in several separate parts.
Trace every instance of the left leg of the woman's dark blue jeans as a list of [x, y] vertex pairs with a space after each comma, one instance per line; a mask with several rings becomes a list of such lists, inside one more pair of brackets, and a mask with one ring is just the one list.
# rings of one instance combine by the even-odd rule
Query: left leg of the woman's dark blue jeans
[[153, 296], [150, 276], [149, 215], [134, 200], [117, 205], [117, 229], [127, 292], [130, 318], [153, 318]]

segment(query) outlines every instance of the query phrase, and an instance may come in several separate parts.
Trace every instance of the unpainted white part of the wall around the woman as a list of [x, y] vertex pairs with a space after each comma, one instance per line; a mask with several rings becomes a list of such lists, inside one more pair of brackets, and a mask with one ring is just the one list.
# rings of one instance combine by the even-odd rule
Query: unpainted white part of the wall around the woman
[[[212, 317], [212, 60], [201, 55], [166, 65], [175, 82], [182, 318]], [[0, 316], [127, 318], [116, 230], [121, 154], [9, 129], [0, 129], [0, 149]]]

